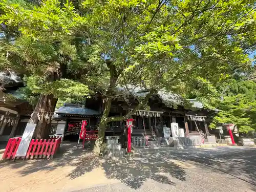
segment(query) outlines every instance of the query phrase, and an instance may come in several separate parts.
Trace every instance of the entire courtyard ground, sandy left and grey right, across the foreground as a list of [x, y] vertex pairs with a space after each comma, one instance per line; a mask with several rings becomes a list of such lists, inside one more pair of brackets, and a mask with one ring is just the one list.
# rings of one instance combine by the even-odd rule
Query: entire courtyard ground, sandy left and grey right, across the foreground
[[1, 163], [0, 191], [256, 191], [255, 148], [150, 148], [122, 160], [66, 148], [53, 160]]

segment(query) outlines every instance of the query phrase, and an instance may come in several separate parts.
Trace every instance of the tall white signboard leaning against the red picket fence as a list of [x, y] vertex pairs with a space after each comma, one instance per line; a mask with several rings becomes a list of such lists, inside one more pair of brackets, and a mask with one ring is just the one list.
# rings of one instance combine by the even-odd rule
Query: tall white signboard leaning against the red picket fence
[[30, 141], [33, 137], [36, 124], [28, 123], [23, 133], [22, 140], [19, 143], [15, 157], [25, 157], [29, 148]]

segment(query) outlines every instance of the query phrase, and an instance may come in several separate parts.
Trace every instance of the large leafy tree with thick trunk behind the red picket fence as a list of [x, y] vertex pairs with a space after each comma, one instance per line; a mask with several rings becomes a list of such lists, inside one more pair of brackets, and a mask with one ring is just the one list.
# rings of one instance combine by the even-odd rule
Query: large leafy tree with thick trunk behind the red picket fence
[[0, 5], [4, 37], [0, 65], [25, 74], [29, 89], [24, 91], [40, 95], [29, 123], [37, 123], [38, 139], [48, 138], [57, 98], [89, 93], [74, 75], [81, 64], [72, 44], [79, 16], [68, 2], [62, 8], [58, 1], [41, 6], [2, 1]]

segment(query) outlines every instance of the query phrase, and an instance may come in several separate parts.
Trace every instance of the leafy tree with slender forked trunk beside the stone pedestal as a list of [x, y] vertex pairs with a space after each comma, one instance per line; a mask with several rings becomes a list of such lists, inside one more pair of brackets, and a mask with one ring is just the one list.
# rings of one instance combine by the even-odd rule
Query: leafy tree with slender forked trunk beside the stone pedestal
[[[94, 81], [97, 88], [106, 90], [96, 152], [105, 123], [134, 113], [108, 117], [118, 84], [150, 90], [135, 110], [162, 88], [183, 98], [193, 92], [212, 107], [211, 101], [219, 98], [216, 86], [229, 75], [250, 69], [246, 53], [255, 48], [254, 18], [248, 14], [235, 21], [251, 10], [253, 2], [112, 0], [82, 4], [87, 23], [81, 35], [92, 42], [88, 45], [91, 63], [106, 71], [101, 73], [105, 83], [97, 81], [98, 77]], [[105, 64], [105, 58], [110, 62]]]

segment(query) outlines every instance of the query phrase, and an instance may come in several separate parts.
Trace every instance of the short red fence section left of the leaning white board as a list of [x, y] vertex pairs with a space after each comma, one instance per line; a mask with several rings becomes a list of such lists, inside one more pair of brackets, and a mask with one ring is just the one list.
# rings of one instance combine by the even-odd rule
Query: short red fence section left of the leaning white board
[[3, 155], [3, 159], [14, 159], [16, 152], [18, 150], [18, 145], [20, 143], [20, 140], [22, 140], [21, 137], [14, 137], [9, 139], [5, 147], [5, 153]]

